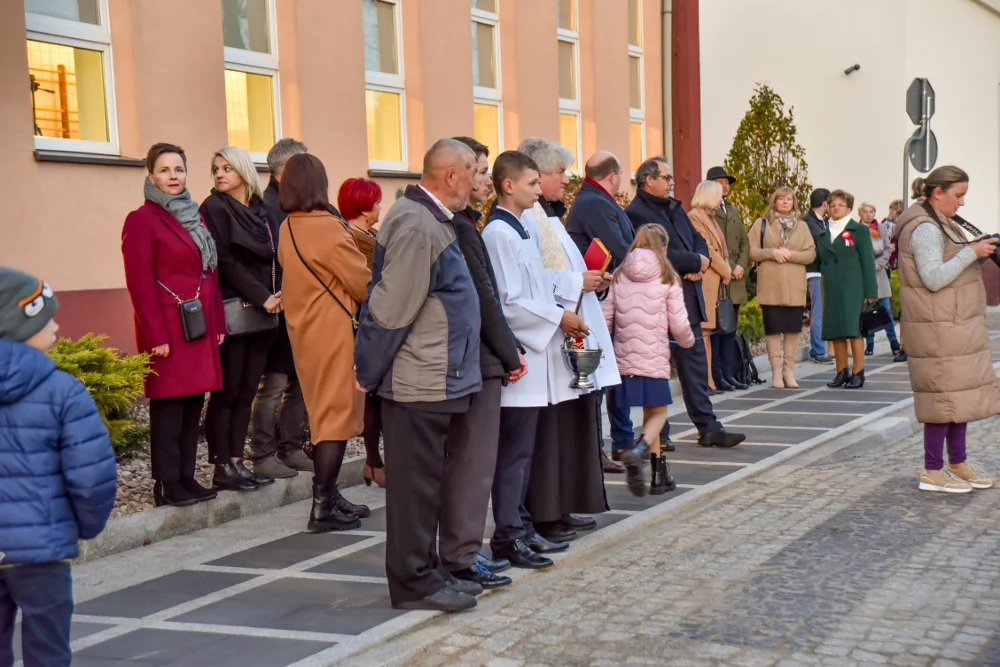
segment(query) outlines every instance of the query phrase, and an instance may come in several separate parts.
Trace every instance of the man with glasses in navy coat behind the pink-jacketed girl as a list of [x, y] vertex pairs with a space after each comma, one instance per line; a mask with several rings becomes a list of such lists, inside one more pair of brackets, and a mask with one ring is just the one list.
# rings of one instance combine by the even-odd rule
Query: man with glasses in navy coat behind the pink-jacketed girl
[[[674, 176], [662, 157], [643, 162], [635, 172], [635, 199], [625, 212], [635, 228], [646, 224], [662, 225], [670, 238], [667, 259], [682, 276], [684, 305], [694, 331], [701, 329], [706, 318], [705, 298], [701, 293], [701, 276], [711, 266], [708, 246], [695, 231], [681, 203], [670, 196]], [[705, 340], [696, 338], [694, 347], [684, 349], [671, 344], [670, 356], [677, 364], [677, 375], [684, 395], [684, 407], [698, 427], [698, 444], [703, 447], [734, 447], [746, 439], [741, 433], [726, 431], [712, 410], [708, 393], [708, 358]], [[670, 424], [663, 427], [661, 444], [671, 451]]]

